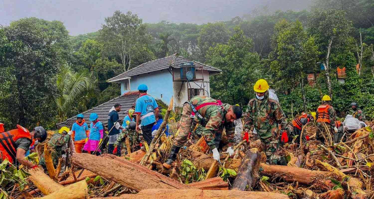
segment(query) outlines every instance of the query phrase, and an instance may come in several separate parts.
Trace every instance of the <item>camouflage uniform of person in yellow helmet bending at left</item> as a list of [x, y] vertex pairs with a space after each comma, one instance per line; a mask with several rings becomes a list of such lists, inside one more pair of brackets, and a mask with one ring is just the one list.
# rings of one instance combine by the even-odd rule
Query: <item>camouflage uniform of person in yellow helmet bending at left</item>
[[[58, 164], [58, 159], [62, 158], [62, 153], [66, 149], [67, 143], [69, 142], [70, 136], [68, 134], [63, 135], [55, 133], [52, 135], [48, 142], [48, 147], [51, 149], [53, 165], [56, 167]], [[65, 156], [66, 157], [66, 156]], [[44, 153], [40, 156], [39, 164], [43, 168], [46, 168]]]

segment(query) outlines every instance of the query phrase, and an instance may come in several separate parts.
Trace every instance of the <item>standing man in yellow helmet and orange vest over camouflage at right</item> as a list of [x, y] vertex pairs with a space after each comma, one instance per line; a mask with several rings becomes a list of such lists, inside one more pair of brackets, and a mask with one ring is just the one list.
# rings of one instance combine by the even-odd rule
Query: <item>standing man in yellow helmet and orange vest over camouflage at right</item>
[[[318, 106], [317, 109], [317, 140], [324, 143], [325, 139], [331, 137], [331, 141], [334, 141], [334, 134], [338, 133], [337, 127], [335, 127], [336, 112], [334, 107], [331, 106], [331, 98], [328, 95], [322, 97], [322, 105]], [[329, 133], [329, 134], [328, 134]]]

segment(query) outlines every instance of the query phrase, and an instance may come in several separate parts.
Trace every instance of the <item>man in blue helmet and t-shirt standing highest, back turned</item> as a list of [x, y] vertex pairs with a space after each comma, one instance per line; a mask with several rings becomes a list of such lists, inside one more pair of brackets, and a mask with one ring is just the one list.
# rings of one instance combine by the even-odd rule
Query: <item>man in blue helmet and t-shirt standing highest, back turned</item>
[[145, 84], [140, 84], [138, 87], [140, 97], [135, 103], [135, 114], [137, 114], [137, 131], [139, 128], [139, 121], [141, 120], [141, 130], [145, 142], [148, 145], [152, 142], [152, 127], [156, 122], [156, 117], [159, 116], [159, 106], [153, 97], [147, 95], [148, 87]]

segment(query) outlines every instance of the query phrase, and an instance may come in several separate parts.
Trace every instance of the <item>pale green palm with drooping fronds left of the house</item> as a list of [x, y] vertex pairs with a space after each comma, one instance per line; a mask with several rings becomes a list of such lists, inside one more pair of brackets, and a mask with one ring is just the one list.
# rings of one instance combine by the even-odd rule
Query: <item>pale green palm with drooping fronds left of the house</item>
[[57, 76], [57, 88], [60, 95], [55, 99], [59, 121], [76, 110], [86, 110], [86, 104], [92, 97], [98, 96], [98, 88], [91, 72], [73, 72], [68, 65], [61, 68]]

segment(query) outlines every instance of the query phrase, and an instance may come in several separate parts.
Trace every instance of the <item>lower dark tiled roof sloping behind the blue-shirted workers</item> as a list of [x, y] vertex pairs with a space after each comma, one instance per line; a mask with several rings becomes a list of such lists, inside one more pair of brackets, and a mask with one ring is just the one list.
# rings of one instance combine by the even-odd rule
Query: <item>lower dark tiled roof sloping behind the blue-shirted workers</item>
[[[105, 126], [108, 124], [108, 114], [109, 110], [114, 106], [114, 104], [119, 103], [121, 105], [121, 111], [119, 114], [120, 124], [122, 124], [123, 118], [128, 114], [128, 110], [131, 108], [131, 106], [135, 105], [135, 101], [139, 97], [139, 91], [131, 91], [128, 93], [125, 93], [119, 97], [116, 97], [112, 100], [109, 100], [108, 102], [102, 103], [99, 106], [96, 106], [92, 109], [89, 109], [88, 111], [83, 112], [83, 116], [85, 116], [85, 120], [87, 124], [90, 124], [91, 121], [89, 121], [89, 117], [91, 113], [97, 113], [99, 115], [98, 119], [102, 122]], [[76, 121], [76, 115], [73, 117], [57, 123], [57, 127], [61, 128], [64, 126], [70, 127], [73, 125], [73, 123]]]

